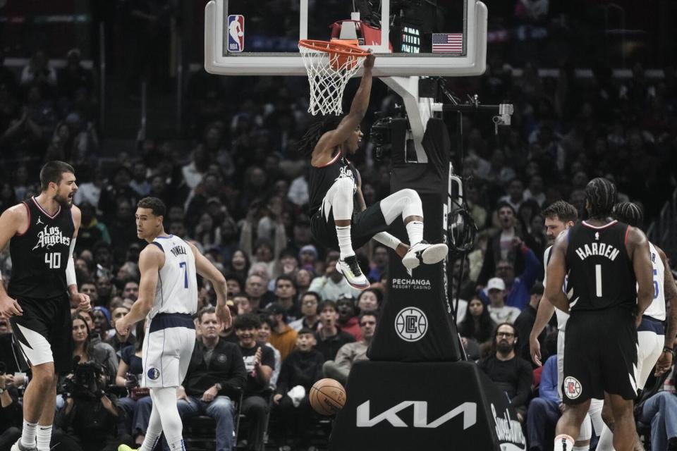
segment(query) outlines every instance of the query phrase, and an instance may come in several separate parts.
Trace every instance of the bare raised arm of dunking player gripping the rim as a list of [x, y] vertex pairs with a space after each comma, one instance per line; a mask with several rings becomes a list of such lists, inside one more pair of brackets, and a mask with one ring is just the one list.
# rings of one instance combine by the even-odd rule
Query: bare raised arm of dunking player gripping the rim
[[326, 132], [319, 138], [319, 141], [317, 141], [317, 144], [315, 145], [315, 150], [312, 152], [314, 156], [331, 154], [331, 152], [334, 152], [336, 146], [343, 144], [343, 142], [350, 137], [350, 133], [355, 132], [355, 129], [360, 126], [360, 122], [362, 122], [362, 118], [365, 117], [367, 108], [369, 107], [369, 99], [372, 92], [372, 68], [374, 67], [374, 58], [375, 56], [372, 54], [369, 54], [365, 58], [365, 69], [362, 74], [362, 81], [360, 82], [358, 91], [355, 92], [353, 103], [350, 104], [350, 111], [341, 122], [338, 123], [336, 130]]

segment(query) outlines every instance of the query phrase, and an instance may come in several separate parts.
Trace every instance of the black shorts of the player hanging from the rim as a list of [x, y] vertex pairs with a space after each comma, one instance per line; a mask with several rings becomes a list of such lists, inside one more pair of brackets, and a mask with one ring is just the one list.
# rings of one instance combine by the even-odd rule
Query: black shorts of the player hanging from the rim
[[[353, 242], [353, 249], [359, 249], [366, 245], [374, 235], [386, 230], [388, 230], [388, 224], [386, 224], [386, 218], [381, 211], [381, 202], [368, 206], [365, 211], [360, 211], [360, 213], [353, 213], [353, 218], [350, 220], [350, 240]], [[320, 245], [339, 250], [333, 209], [329, 210], [327, 219], [324, 218], [322, 208], [312, 215], [310, 218], [310, 233]]]

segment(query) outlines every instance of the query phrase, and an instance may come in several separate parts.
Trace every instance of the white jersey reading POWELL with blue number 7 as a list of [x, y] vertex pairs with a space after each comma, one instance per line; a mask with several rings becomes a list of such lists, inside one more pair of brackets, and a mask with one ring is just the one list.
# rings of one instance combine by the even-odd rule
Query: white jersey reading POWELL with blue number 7
[[164, 266], [159, 271], [155, 300], [148, 318], [159, 313], [193, 315], [197, 311], [195, 254], [175, 235], [157, 237], [153, 245], [164, 251]]

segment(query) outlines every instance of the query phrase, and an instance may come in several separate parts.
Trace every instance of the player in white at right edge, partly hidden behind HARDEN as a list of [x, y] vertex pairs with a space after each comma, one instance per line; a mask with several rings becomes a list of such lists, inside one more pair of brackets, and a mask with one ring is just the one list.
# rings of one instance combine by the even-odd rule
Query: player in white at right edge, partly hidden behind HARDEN
[[[633, 227], [642, 227], [644, 215], [642, 210], [632, 202], [619, 202], [614, 206], [612, 216], [618, 221]], [[638, 335], [638, 362], [637, 362], [637, 388], [644, 389], [652, 369], [658, 376], [670, 369], [672, 365], [673, 338], [677, 335], [677, 285], [672, 276], [670, 265], [665, 253], [652, 242], [649, 242], [651, 252], [651, 264], [654, 274], [654, 298], [642, 316], [642, 322], [637, 328]], [[670, 316], [666, 315], [666, 303], [670, 303]], [[667, 316], [667, 318], [666, 318]], [[667, 319], [667, 327], [663, 321]], [[604, 418], [608, 420], [608, 426], [604, 426], [602, 436], [597, 443], [599, 451], [613, 451], [614, 422], [611, 419], [609, 407], [604, 406]], [[642, 450], [639, 437], [635, 444], [635, 450]]]

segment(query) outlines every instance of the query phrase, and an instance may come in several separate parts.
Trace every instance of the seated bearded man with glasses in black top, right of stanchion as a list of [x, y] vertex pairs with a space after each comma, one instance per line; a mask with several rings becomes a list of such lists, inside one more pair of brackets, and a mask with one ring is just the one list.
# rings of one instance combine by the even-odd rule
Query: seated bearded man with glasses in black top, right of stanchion
[[478, 365], [506, 393], [521, 423], [527, 413], [533, 373], [529, 362], [515, 354], [517, 342], [515, 326], [511, 323], [499, 324], [494, 335], [492, 355], [480, 360]]

